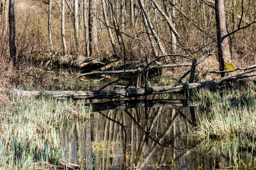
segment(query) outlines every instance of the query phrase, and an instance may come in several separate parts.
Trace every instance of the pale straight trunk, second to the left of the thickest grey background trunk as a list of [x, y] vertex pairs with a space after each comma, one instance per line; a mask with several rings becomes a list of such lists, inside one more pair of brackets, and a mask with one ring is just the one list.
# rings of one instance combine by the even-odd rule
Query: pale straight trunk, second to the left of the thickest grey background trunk
[[76, 41], [76, 52], [79, 50], [79, 16], [78, 16], [78, 0], [74, 0], [74, 34]]

